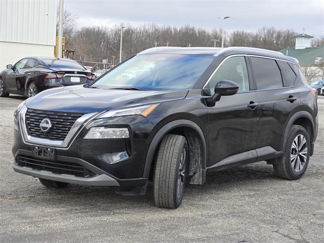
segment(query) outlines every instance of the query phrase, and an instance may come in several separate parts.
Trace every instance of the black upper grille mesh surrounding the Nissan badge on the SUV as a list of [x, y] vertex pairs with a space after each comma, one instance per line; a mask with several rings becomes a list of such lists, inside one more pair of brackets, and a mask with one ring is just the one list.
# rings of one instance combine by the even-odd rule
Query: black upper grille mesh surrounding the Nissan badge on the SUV
[[[80, 113], [27, 109], [26, 126], [28, 134], [36, 138], [64, 140], [75, 121], [82, 115]], [[48, 133], [44, 133], [39, 127], [44, 118], [49, 118], [52, 123], [52, 128]]]

